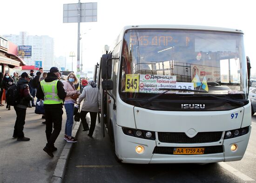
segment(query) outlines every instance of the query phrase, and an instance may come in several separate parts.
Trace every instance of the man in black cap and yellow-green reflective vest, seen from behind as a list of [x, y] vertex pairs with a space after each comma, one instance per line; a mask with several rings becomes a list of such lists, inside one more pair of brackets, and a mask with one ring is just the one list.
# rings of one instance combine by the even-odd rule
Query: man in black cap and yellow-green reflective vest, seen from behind
[[[60, 72], [57, 67], [52, 67], [47, 73], [47, 78], [40, 82], [37, 88], [36, 97], [44, 100], [45, 120], [46, 120], [46, 138], [47, 144], [44, 151], [50, 157], [54, 157], [53, 152], [57, 150], [54, 143], [61, 132], [62, 124], [62, 99], [67, 93], [60, 81]], [[54, 131], [53, 131], [54, 125]]]

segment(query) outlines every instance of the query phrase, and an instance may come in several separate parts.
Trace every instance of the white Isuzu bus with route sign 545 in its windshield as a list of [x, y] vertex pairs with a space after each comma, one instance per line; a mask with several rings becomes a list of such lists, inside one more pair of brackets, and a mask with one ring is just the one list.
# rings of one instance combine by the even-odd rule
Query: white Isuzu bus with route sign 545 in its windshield
[[241, 30], [125, 26], [107, 53], [98, 75], [101, 120], [119, 161], [243, 158], [251, 104]]

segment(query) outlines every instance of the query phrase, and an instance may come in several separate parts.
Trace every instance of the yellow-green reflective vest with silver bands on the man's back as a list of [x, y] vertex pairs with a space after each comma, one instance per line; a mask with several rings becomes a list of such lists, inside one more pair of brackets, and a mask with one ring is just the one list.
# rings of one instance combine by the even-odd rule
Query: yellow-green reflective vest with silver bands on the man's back
[[40, 81], [42, 91], [44, 92], [44, 104], [62, 104], [62, 99], [58, 96], [58, 79], [52, 82]]

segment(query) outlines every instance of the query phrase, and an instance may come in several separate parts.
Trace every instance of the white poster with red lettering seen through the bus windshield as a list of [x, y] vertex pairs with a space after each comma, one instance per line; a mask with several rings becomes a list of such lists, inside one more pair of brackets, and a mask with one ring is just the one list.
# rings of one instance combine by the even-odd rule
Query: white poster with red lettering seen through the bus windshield
[[195, 78], [196, 73], [200, 78], [201, 82], [204, 76], [207, 82], [219, 82], [221, 81], [221, 69], [220, 67], [211, 67], [203, 65], [193, 65], [191, 64], [191, 76], [192, 79]]

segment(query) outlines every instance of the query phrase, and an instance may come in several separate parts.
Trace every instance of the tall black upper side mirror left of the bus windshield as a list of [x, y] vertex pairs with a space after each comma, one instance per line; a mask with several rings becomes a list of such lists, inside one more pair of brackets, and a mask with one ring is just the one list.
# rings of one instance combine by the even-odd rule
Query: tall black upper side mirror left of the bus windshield
[[104, 54], [101, 57], [101, 78], [110, 79], [112, 72], [112, 55]]

